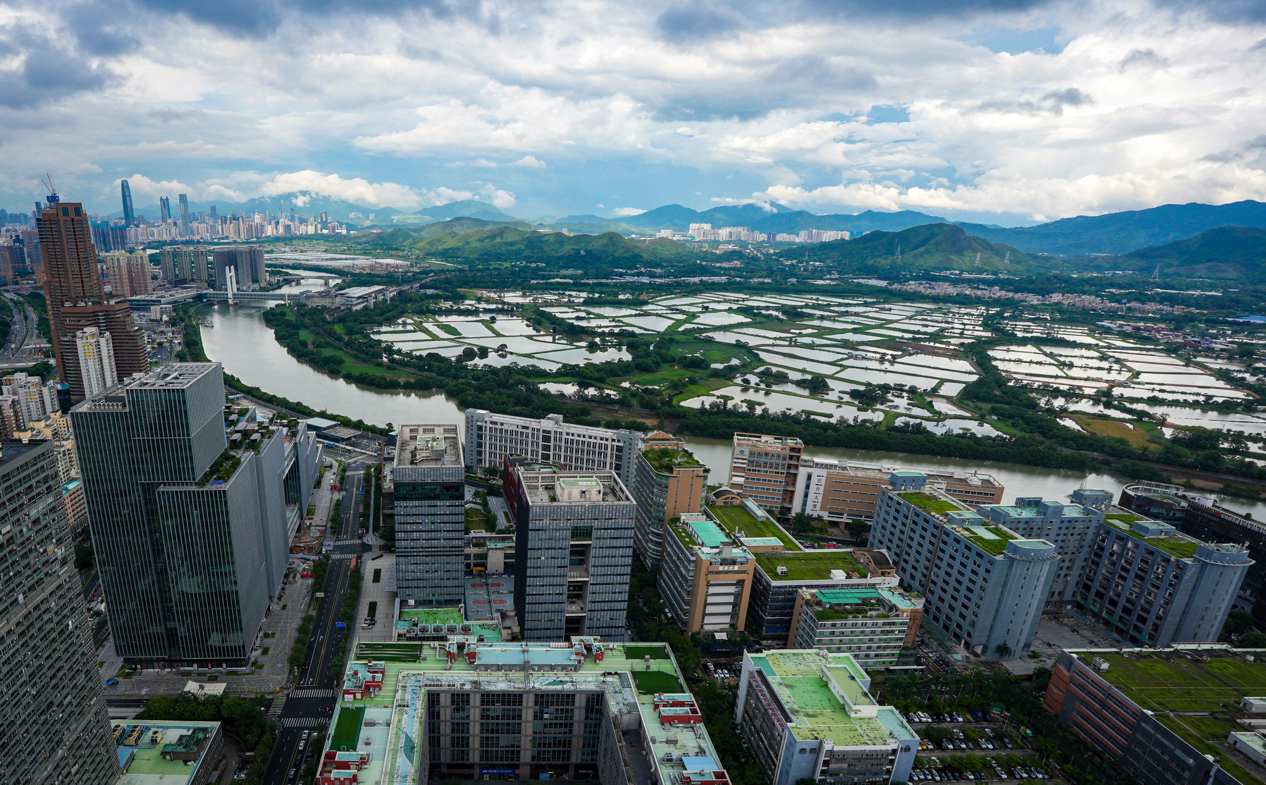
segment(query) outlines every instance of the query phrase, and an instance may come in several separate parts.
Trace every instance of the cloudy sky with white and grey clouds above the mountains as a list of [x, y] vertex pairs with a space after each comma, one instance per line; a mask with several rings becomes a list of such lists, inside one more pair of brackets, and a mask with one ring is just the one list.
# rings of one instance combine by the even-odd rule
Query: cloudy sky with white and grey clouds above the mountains
[[1222, 204], [1266, 199], [1263, 75], [1263, 0], [0, 0], [0, 206]]

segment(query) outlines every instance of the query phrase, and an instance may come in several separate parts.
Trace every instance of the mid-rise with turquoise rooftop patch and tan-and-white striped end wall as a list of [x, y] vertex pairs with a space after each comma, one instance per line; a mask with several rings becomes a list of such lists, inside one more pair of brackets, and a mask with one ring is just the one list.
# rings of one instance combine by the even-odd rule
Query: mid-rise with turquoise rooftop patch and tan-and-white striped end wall
[[689, 634], [743, 629], [756, 558], [715, 522], [686, 513], [666, 524], [658, 587], [665, 605]]

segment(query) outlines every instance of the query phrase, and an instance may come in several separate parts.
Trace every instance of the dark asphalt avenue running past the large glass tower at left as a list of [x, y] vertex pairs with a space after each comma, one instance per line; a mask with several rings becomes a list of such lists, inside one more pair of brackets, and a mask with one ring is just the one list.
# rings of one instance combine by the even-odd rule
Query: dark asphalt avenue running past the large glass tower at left
[[[263, 781], [266, 785], [287, 785], [298, 781], [299, 772], [304, 763], [320, 753], [320, 746], [315, 748], [310, 742], [303, 744], [303, 732], [324, 733], [328, 731], [325, 723], [334, 712], [335, 695], [339, 694], [339, 680], [342, 679], [342, 666], [334, 667], [338, 658], [339, 641], [347, 639], [352, 625], [347, 631], [334, 627], [338, 622], [338, 613], [343, 606], [343, 598], [347, 594], [348, 576], [351, 575], [352, 558], [361, 553], [361, 544], [344, 543], [354, 537], [354, 524], [358, 520], [357, 500], [361, 490], [361, 465], [348, 466], [346, 485], [343, 486], [343, 512], [339, 515], [335, 528], [335, 542], [339, 542], [330, 558], [329, 571], [325, 574], [325, 596], [316, 606], [316, 618], [313, 622], [313, 632], [308, 638], [306, 662], [299, 680], [286, 696], [286, 703], [281, 710], [281, 733], [273, 746], [272, 760]], [[356, 471], [356, 474], [353, 474]], [[360, 568], [360, 563], [357, 563]], [[295, 772], [295, 777], [290, 772]]]

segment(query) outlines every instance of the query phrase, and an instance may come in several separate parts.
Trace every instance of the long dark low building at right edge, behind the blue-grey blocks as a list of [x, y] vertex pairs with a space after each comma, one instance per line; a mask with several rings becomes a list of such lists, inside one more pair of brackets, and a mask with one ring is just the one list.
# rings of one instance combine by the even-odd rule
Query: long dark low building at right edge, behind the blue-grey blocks
[[1172, 524], [1203, 542], [1239, 542], [1248, 547], [1252, 566], [1239, 585], [1236, 606], [1248, 610], [1266, 627], [1266, 523], [1232, 512], [1213, 496], [1194, 494], [1179, 485], [1137, 482], [1120, 491], [1120, 506], [1153, 520]]

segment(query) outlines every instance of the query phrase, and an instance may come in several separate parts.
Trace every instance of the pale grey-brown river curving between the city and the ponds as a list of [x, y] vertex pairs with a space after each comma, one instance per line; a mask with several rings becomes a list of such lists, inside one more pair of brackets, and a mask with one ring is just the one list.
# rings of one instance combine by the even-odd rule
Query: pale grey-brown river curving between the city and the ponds
[[[289, 289], [305, 291], [320, 287], [319, 279], [305, 279]], [[390, 392], [354, 385], [328, 376], [303, 365], [286, 353], [263, 323], [265, 305], [243, 303], [229, 308], [220, 303], [200, 309], [204, 322], [203, 344], [206, 356], [224, 363], [224, 370], [248, 385], [273, 395], [301, 401], [314, 409], [325, 409], [367, 423], [385, 425], [392, 423], [453, 423], [462, 424], [462, 408], [442, 392]], [[711, 480], [728, 480], [730, 443], [724, 439], [685, 437], [686, 444], [705, 466], [711, 468]], [[1039, 468], [1018, 463], [993, 461], [963, 461], [932, 456], [872, 452], [866, 449], [832, 449], [809, 447], [806, 455], [823, 458], [842, 458], [868, 463], [891, 463], [903, 468], [936, 468], [941, 471], [966, 471], [993, 475], [1006, 491], [1005, 499], [1015, 496], [1042, 496], [1062, 499], [1082, 484], [1112, 491], [1119, 498], [1125, 480], [1109, 474], [1085, 475], [1076, 471]], [[1266, 518], [1266, 504], [1234, 498], [1219, 498], [1222, 504], [1237, 512], [1248, 512], [1253, 518]]]

